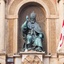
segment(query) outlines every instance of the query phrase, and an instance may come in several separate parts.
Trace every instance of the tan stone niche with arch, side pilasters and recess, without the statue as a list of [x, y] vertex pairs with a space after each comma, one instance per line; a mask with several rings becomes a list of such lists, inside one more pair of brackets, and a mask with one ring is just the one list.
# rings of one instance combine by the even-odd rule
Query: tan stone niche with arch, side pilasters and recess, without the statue
[[55, 21], [57, 17], [56, 7], [51, 0], [11, 0], [8, 9], [9, 42], [6, 42], [8, 54], [13, 55], [22, 49], [24, 41], [20, 26], [24, 23], [26, 15], [30, 16], [32, 11], [36, 13], [37, 22], [44, 33], [43, 49], [45, 53], [56, 53]]

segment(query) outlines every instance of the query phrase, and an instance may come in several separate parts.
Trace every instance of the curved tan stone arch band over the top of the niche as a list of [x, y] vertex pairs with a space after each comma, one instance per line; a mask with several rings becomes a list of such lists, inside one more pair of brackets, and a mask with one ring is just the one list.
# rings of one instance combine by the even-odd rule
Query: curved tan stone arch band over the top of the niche
[[[16, 14], [19, 11], [19, 8], [24, 5], [25, 3], [28, 2], [37, 2], [40, 3], [42, 6], [44, 6], [44, 8], [46, 9], [46, 11], [48, 11], [50, 14], [56, 14], [56, 8], [55, 8], [55, 4], [53, 3], [53, 1], [51, 0], [11, 0], [8, 8], [8, 12], [9, 14]], [[20, 6], [21, 5], [21, 6]], [[17, 8], [18, 7], [18, 8]], [[16, 10], [17, 8], [17, 10]]]

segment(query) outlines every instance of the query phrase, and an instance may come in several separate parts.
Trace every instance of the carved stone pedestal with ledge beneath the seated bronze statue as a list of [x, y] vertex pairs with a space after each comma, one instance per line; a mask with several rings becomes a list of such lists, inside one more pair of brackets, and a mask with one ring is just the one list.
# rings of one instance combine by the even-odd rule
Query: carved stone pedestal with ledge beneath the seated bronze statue
[[43, 55], [45, 52], [20, 52], [22, 56], [22, 64], [43, 64]]

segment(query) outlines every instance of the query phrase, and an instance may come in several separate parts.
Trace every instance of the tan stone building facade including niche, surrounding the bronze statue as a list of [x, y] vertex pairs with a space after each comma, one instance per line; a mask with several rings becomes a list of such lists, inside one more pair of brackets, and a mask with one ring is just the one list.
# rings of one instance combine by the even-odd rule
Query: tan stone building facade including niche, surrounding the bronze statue
[[45, 36], [43, 63], [64, 64], [64, 46], [57, 52], [63, 7], [64, 0], [0, 0], [0, 64], [15, 64], [23, 45], [20, 26], [32, 11]]

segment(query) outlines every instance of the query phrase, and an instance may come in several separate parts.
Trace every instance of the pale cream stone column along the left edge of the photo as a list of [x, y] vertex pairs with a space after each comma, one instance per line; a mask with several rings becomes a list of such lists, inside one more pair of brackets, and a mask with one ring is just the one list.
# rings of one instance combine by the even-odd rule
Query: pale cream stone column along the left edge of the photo
[[5, 2], [0, 0], [0, 52], [4, 51]]

